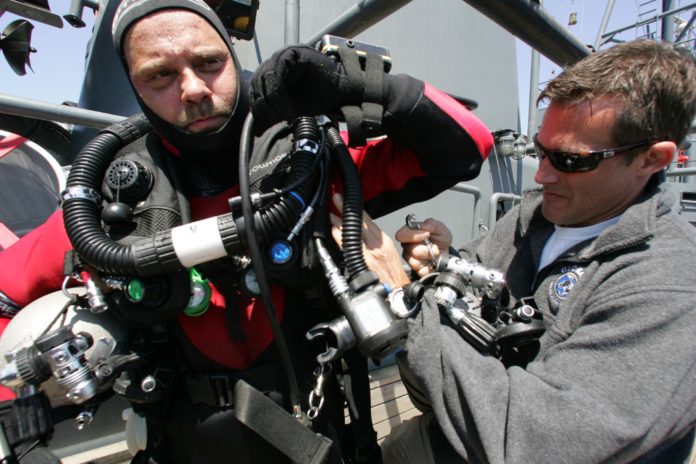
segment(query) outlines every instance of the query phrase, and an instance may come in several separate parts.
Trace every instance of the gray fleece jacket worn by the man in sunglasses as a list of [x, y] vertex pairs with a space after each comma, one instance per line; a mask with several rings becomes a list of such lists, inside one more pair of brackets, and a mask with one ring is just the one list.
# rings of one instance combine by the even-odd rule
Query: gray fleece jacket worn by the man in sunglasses
[[665, 462], [655, 455], [696, 424], [696, 228], [654, 188], [538, 270], [553, 231], [540, 203], [526, 192], [462, 250], [504, 271], [513, 298], [534, 296], [546, 325], [535, 359], [505, 369], [425, 305], [406, 364], [471, 463]]

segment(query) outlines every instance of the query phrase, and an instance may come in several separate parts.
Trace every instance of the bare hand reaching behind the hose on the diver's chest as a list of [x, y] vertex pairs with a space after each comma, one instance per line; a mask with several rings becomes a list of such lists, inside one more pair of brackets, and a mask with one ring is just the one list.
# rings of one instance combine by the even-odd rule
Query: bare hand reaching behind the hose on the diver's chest
[[[335, 194], [333, 201], [336, 208], [342, 211], [343, 198], [341, 195]], [[341, 218], [332, 213], [331, 224], [331, 235], [336, 243], [342, 246]], [[411, 282], [404, 271], [394, 242], [365, 212], [363, 212], [363, 253], [367, 267], [377, 274], [380, 281], [388, 284], [392, 289], [403, 287]]]

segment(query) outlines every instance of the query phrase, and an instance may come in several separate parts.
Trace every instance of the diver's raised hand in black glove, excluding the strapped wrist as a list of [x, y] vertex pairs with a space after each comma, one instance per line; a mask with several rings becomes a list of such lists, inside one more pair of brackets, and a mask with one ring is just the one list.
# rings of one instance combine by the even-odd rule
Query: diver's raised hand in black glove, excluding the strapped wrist
[[263, 131], [298, 116], [336, 113], [360, 104], [362, 89], [352, 88], [342, 63], [306, 46], [277, 51], [251, 78], [254, 127]]

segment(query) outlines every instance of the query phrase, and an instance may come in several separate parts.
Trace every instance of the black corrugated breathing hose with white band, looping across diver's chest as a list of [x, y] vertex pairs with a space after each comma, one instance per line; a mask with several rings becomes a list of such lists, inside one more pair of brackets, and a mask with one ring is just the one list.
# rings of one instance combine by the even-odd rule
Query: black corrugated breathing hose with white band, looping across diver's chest
[[[176, 272], [204, 262], [186, 246], [177, 248], [176, 238], [168, 229], [156, 232], [151, 237], [123, 245], [112, 240], [101, 224], [100, 189], [109, 164], [114, 155], [124, 146], [144, 136], [152, 129], [149, 121], [138, 115], [107, 127], [83, 148], [75, 159], [63, 193], [64, 222], [68, 237], [77, 253], [87, 263], [112, 275], [148, 277]], [[298, 135], [317, 140], [319, 137], [306, 133], [307, 127], [300, 125]], [[315, 128], [316, 131], [318, 129]], [[288, 195], [264, 206], [254, 215], [254, 226], [259, 231], [259, 241], [268, 243], [278, 233], [287, 231], [299, 218], [307, 198], [316, 186], [317, 176], [307, 176], [316, 153], [296, 150], [291, 161], [291, 172], [287, 185], [297, 184]], [[221, 241], [224, 247], [218, 255], [237, 255], [244, 252], [239, 240], [237, 224], [232, 213], [217, 216], [217, 232], [214, 237], [198, 237], [199, 240]], [[183, 250], [183, 251], [182, 251]], [[189, 253], [187, 255], [187, 252]], [[193, 258], [191, 257], [193, 254]], [[213, 256], [216, 259], [222, 256]], [[209, 260], [209, 259], [208, 259]]]

